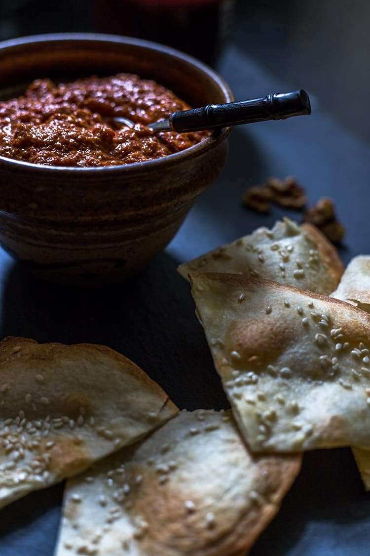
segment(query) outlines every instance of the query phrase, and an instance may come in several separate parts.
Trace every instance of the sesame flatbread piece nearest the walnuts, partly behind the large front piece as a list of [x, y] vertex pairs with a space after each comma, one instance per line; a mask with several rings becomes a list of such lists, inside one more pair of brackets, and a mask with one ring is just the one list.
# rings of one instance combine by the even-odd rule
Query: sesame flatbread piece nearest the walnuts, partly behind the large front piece
[[271, 230], [258, 228], [251, 235], [185, 262], [178, 270], [186, 279], [189, 272], [230, 272], [328, 295], [338, 285], [343, 264], [336, 249], [315, 226], [298, 226], [286, 218]]

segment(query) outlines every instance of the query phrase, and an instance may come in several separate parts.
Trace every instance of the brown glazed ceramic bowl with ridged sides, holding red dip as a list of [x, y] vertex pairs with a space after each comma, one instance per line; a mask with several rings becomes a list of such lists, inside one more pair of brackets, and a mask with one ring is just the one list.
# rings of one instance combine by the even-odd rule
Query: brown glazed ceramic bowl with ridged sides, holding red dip
[[[0, 43], [0, 100], [35, 78], [70, 81], [136, 73], [191, 106], [230, 102], [212, 69], [159, 44], [102, 34], [50, 34]], [[102, 168], [42, 166], [0, 157], [0, 243], [37, 275], [95, 286], [134, 274], [174, 237], [219, 175], [229, 128], [153, 161]]]

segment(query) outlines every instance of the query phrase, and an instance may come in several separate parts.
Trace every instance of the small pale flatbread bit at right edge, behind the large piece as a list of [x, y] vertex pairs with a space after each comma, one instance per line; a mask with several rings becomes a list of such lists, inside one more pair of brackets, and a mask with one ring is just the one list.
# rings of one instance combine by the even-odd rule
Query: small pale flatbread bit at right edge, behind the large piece
[[370, 256], [359, 255], [349, 262], [331, 297], [370, 312]]

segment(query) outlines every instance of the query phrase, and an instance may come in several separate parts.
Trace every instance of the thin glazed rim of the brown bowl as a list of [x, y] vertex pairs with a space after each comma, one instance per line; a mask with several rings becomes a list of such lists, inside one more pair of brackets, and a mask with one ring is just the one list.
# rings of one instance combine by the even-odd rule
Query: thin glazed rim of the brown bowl
[[[69, 42], [69, 41], [81, 41], [81, 42], [108, 42], [108, 43], [120, 43], [120, 44], [130, 44], [133, 46], [139, 46], [152, 51], [160, 51], [165, 54], [169, 54], [175, 58], [180, 58], [181, 60], [191, 64], [191, 66], [196, 66], [201, 69], [204, 73], [212, 78], [213, 81], [221, 88], [225, 96], [229, 99], [228, 102], [234, 100], [234, 95], [227, 85], [224, 78], [222, 78], [214, 69], [207, 66], [204, 62], [201, 62], [197, 58], [190, 56], [184, 52], [181, 52], [175, 48], [165, 46], [164, 44], [146, 41], [144, 39], [138, 39], [133, 37], [120, 36], [108, 33], [43, 33], [36, 35], [28, 35], [25, 37], [17, 37], [8, 39], [6, 41], [0, 42], [0, 54], [3, 54], [6, 49], [12, 49], [19, 46], [27, 46], [28, 44], [43, 43], [43, 42]], [[77, 173], [83, 173], [85, 175], [102, 173], [104, 175], [114, 175], [115, 173], [130, 173], [134, 175], [135, 173], [140, 173], [141, 175], [146, 172], [153, 172], [160, 170], [161, 166], [164, 164], [166, 166], [174, 166], [180, 161], [184, 161], [187, 158], [197, 158], [201, 156], [210, 148], [216, 146], [218, 143], [225, 140], [225, 138], [231, 132], [230, 127], [222, 128], [221, 130], [215, 130], [211, 133], [209, 137], [184, 149], [183, 151], [173, 153], [161, 158], [154, 158], [153, 160], [147, 160], [144, 162], [131, 162], [129, 164], [121, 164], [116, 166], [48, 166], [43, 164], [36, 164], [33, 162], [25, 162], [21, 160], [16, 160], [15, 158], [8, 158], [6, 156], [0, 156], [0, 164], [2, 169], [11, 170], [12, 167], [22, 168], [23, 170], [29, 170], [31, 172], [39, 172], [43, 169], [43, 172], [63, 172], [65, 175], [74, 175]]]

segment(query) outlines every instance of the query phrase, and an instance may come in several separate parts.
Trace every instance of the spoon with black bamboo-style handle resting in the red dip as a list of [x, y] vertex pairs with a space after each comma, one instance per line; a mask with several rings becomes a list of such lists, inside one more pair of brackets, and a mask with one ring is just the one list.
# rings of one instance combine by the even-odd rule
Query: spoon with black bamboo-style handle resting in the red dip
[[[285, 120], [292, 116], [311, 114], [310, 98], [305, 91], [271, 93], [266, 97], [247, 101], [227, 102], [223, 105], [210, 104], [175, 112], [166, 120], [149, 123], [153, 131], [202, 131], [219, 127], [239, 126], [242, 123]], [[128, 127], [135, 123], [129, 118], [111, 117], [107, 120]]]

